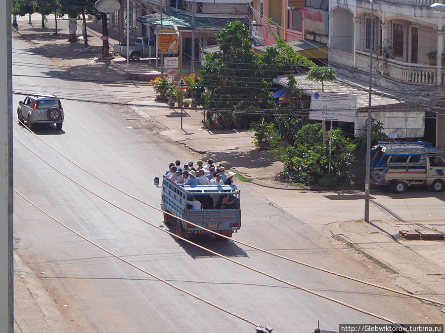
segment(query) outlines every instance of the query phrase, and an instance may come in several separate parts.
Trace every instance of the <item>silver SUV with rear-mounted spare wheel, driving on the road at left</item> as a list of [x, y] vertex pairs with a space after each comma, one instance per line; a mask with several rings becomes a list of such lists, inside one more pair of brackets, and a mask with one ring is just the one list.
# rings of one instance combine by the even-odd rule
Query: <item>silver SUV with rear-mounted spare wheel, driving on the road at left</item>
[[55, 97], [26, 96], [17, 108], [19, 122], [27, 122], [32, 130], [36, 124], [55, 124], [62, 129], [63, 109], [60, 100]]

